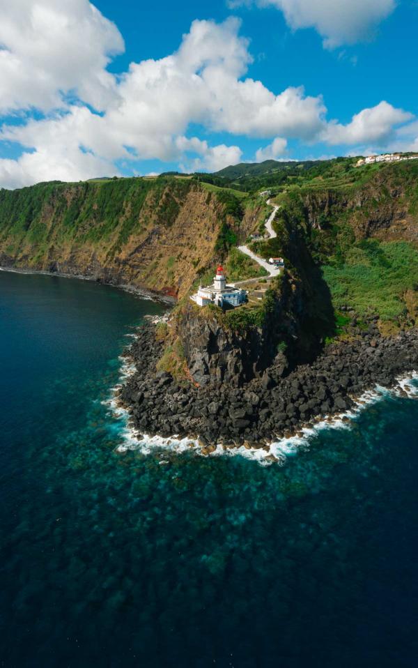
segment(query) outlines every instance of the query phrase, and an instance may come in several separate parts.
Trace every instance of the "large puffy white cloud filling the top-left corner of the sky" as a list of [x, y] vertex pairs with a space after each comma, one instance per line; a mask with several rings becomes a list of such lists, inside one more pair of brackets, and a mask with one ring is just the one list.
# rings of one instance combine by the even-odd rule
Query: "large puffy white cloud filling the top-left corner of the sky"
[[72, 91], [99, 109], [109, 103], [106, 67], [123, 38], [88, 0], [0, 0], [0, 14], [0, 111], [46, 111]]

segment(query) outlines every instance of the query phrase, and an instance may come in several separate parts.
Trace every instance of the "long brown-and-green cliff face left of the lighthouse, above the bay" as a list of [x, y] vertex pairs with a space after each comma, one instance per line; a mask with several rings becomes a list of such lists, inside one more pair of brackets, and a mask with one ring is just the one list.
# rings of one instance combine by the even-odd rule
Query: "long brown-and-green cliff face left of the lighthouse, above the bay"
[[0, 264], [183, 296], [217, 255], [222, 203], [186, 179], [0, 191]]

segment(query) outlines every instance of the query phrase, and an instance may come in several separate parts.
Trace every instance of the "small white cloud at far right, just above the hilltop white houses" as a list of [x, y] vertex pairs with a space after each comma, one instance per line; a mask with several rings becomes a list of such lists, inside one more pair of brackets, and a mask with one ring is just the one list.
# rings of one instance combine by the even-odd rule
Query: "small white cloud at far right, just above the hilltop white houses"
[[394, 128], [412, 119], [412, 114], [381, 102], [371, 109], [355, 114], [348, 125], [329, 123], [323, 132], [327, 144], [386, 144]]

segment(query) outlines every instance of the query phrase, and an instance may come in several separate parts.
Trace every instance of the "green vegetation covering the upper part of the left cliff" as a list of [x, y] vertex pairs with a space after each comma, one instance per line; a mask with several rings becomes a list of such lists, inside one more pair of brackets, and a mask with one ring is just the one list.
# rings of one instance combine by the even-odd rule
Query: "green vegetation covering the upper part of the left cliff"
[[[169, 186], [169, 187], [168, 187]], [[0, 239], [24, 236], [41, 252], [50, 243], [52, 220], [61, 241], [100, 243], [114, 236], [113, 254], [140, 229], [139, 215], [147, 197], [159, 225], [173, 225], [190, 181], [159, 178], [111, 179], [85, 183], [40, 183], [22, 190], [0, 190]]]

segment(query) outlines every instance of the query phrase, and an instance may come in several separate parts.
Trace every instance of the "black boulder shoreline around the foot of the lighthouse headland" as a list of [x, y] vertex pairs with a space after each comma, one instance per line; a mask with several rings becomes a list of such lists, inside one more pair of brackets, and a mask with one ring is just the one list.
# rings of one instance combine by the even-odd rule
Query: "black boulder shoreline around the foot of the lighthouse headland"
[[281, 367], [272, 365], [263, 377], [234, 388], [179, 384], [169, 373], [157, 372], [163, 345], [148, 322], [125, 353], [136, 370], [117, 401], [138, 434], [199, 439], [204, 454], [213, 452], [217, 443], [263, 448], [348, 411], [366, 390], [390, 388], [396, 378], [418, 369], [417, 328], [382, 337], [377, 318], [367, 324], [352, 341], [326, 346], [313, 363], [296, 367], [286, 377], [281, 377]]

